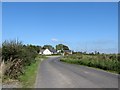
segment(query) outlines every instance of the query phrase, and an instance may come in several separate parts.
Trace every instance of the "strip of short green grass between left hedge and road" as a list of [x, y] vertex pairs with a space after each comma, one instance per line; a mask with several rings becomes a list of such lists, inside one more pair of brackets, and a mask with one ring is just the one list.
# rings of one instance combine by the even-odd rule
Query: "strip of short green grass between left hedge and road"
[[[42, 56], [43, 58], [43, 56]], [[36, 58], [36, 62], [27, 66], [25, 74], [19, 77], [23, 88], [34, 88], [39, 64], [41, 63], [41, 56]]]

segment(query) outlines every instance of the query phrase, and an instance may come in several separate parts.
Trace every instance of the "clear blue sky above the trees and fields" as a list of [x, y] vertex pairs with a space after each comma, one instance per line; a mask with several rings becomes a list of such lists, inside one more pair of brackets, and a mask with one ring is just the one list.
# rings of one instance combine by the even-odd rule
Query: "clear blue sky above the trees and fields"
[[117, 2], [4, 2], [2, 41], [65, 44], [74, 51], [118, 52]]

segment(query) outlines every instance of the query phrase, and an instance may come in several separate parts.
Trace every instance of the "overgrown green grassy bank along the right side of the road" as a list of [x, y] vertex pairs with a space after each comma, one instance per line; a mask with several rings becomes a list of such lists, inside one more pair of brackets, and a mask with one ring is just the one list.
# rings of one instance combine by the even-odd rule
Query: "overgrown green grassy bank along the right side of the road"
[[73, 54], [64, 56], [61, 61], [85, 65], [89, 67], [95, 67], [106, 71], [120, 73], [120, 61], [115, 54], [99, 54], [99, 55], [84, 55], [84, 54]]

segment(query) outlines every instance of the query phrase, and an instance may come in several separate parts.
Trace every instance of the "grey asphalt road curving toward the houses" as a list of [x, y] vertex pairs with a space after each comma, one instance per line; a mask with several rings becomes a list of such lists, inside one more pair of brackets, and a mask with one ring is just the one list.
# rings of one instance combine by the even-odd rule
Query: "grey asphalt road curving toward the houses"
[[54, 56], [41, 63], [35, 88], [118, 88], [116, 74], [59, 60]]

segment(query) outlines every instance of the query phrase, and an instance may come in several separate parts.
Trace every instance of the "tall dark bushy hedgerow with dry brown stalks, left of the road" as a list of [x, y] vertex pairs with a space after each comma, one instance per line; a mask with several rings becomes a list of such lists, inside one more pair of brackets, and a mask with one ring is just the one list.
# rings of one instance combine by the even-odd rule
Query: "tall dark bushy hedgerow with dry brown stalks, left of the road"
[[17, 79], [24, 74], [26, 66], [35, 62], [38, 55], [35, 46], [24, 45], [20, 41], [10, 40], [2, 43], [2, 61], [5, 62], [4, 75]]

